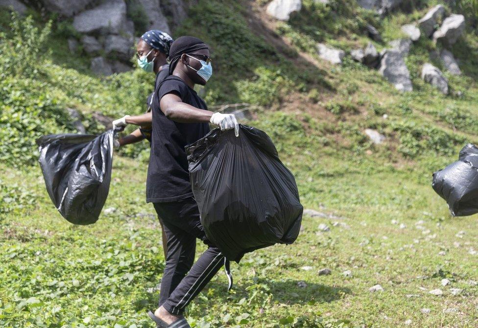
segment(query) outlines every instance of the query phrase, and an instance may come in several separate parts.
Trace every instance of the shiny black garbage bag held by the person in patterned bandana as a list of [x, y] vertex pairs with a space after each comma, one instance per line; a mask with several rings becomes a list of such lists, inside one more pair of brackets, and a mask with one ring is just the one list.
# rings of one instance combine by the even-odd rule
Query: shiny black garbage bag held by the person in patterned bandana
[[73, 224], [95, 223], [110, 188], [113, 130], [99, 136], [49, 135], [36, 142], [48, 195], [57, 210]]

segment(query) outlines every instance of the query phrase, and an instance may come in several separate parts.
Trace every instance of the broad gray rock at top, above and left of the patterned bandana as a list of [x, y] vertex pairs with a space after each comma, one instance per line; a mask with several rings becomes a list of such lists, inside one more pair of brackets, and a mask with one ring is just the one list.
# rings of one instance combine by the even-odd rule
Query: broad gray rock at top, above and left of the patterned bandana
[[85, 10], [73, 19], [73, 27], [81, 33], [114, 33], [124, 31], [126, 4], [124, 0], [108, 0], [99, 6]]

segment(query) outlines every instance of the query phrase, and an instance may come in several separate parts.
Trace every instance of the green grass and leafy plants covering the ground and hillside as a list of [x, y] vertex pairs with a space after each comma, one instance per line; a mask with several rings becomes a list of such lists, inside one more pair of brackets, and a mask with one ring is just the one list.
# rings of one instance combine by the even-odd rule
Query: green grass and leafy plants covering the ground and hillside
[[[471, 12], [473, 1], [456, 2], [462, 9], [449, 12]], [[437, 1], [415, 1], [411, 12], [380, 20], [350, 1], [304, 0], [287, 23], [264, 17], [266, 3], [199, 0], [173, 34], [194, 34], [211, 46], [208, 105], [258, 108], [248, 123], [274, 141], [305, 208], [335, 216], [305, 216], [293, 245], [246, 255], [233, 266], [232, 292], [219, 274], [190, 305], [191, 324], [403, 327], [411, 320], [407, 327], [476, 327], [476, 216], [451, 218], [430, 188], [433, 171], [478, 142], [473, 18], [467, 15], [467, 32], [453, 47], [463, 75], [444, 71], [451, 94], [419, 76], [437, 49], [424, 39], [406, 59], [414, 91], [402, 94], [348, 58], [342, 66], [320, 60], [315, 44], [362, 47], [369, 41], [362, 29], [372, 23], [384, 38], [374, 42], [380, 50]], [[52, 206], [35, 165], [35, 139], [73, 132], [67, 107], [89, 133], [105, 128], [96, 112], [142, 113], [154, 77], [140, 70], [96, 77], [87, 56], [69, 53], [66, 38], [77, 37], [70, 22], [0, 17], [0, 327], [152, 327], [144, 311], [156, 305], [164, 258], [159, 223], [144, 201], [147, 143], [115, 153], [105, 208], [116, 211], [83, 227]], [[373, 144], [366, 128], [386, 141]], [[331, 231], [319, 232], [320, 223]], [[332, 274], [319, 276], [325, 267]], [[451, 284], [442, 286], [443, 278]], [[371, 293], [376, 284], [383, 291]], [[435, 288], [444, 295], [429, 294]]]

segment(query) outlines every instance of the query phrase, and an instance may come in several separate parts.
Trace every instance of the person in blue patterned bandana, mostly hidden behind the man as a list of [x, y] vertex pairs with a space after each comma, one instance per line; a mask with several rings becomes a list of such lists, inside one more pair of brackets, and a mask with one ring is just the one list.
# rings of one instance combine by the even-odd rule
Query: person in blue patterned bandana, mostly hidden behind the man
[[[155, 90], [161, 82], [169, 75], [169, 64], [167, 64], [167, 56], [169, 55], [169, 47], [173, 39], [165, 32], [160, 30], [150, 30], [144, 33], [136, 46], [136, 57], [138, 66], [147, 72], [155, 73]], [[153, 92], [154, 94], [154, 92]], [[140, 127], [127, 136], [115, 140], [116, 148], [136, 143], [146, 139], [151, 143], [151, 101], [153, 94], [146, 99], [147, 111], [143, 115], [129, 116], [126, 115], [113, 121], [113, 127], [124, 129], [127, 124], [135, 124]], [[162, 221], [160, 220], [160, 223]], [[165, 258], [167, 255], [166, 234], [163, 224], [163, 251]]]

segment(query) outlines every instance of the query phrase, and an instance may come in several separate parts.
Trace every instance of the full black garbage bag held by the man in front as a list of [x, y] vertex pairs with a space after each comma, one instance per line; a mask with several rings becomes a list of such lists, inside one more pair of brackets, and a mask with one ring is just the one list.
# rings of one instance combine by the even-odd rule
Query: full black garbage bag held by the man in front
[[297, 185], [263, 131], [240, 125], [236, 137], [214, 129], [186, 152], [201, 223], [228, 260], [295, 241], [303, 211]]

